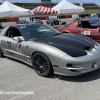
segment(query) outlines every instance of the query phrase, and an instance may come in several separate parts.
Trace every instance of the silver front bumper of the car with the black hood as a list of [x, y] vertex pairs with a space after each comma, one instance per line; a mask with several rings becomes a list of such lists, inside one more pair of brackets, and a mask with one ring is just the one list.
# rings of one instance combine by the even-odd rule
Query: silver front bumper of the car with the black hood
[[[96, 68], [93, 68], [93, 63], [97, 64]], [[72, 64], [76, 66], [67, 66]], [[77, 76], [84, 73], [88, 73], [100, 68], [100, 47], [95, 47], [92, 51], [88, 51], [86, 56], [82, 57], [70, 57], [64, 56], [61, 62], [57, 66], [53, 66], [54, 73], [66, 76]]]

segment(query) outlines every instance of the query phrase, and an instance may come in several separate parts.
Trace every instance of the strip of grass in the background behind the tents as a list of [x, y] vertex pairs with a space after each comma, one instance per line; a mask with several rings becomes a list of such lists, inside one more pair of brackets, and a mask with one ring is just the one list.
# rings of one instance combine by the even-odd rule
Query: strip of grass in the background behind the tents
[[[85, 10], [84, 12], [80, 12], [79, 14], [97, 14], [98, 12], [100, 11], [100, 9], [96, 9], [96, 10]], [[74, 13], [67, 13], [67, 15], [73, 15]], [[60, 15], [60, 14], [58, 14]], [[65, 14], [63, 14], [65, 15]], [[30, 15], [28, 16], [16, 16], [16, 17], [12, 17], [12, 18], [19, 18], [19, 17], [29, 17]], [[36, 15], [36, 17], [39, 17], [39, 16], [46, 16], [46, 15]], [[47, 15], [47, 16], [57, 16], [57, 14], [53, 14], [53, 15]], [[0, 19], [6, 19], [6, 18], [11, 18], [9, 16], [7, 17], [0, 17]]]

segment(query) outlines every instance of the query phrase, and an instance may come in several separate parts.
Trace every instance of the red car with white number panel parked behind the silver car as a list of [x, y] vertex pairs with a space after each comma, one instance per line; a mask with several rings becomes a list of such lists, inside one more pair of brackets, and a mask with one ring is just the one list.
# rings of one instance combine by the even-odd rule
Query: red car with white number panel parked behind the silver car
[[85, 35], [100, 43], [100, 19], [77, 20], [55, 29], [62, 33]]

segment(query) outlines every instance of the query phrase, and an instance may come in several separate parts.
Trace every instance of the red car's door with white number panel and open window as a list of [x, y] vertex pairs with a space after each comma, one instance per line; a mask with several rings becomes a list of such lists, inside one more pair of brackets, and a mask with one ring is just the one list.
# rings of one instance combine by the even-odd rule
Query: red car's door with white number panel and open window
[[98, 26], [92, 26], [90, 21], [79, 21], [75, 33], [85, 35], [96, 40], [96, 34], [98, 33], [97, 27]]

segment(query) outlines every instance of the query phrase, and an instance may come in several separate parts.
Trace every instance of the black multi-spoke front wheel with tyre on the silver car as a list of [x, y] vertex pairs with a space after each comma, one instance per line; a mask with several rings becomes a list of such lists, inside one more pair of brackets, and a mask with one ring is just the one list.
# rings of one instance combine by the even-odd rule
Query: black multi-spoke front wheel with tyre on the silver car
[[46, 77], [53, 74], [53, 68], [50, 60], [41, 53], [36, 53], [32, 57], [33, 68], [40, 76]]

